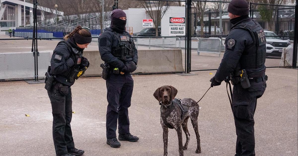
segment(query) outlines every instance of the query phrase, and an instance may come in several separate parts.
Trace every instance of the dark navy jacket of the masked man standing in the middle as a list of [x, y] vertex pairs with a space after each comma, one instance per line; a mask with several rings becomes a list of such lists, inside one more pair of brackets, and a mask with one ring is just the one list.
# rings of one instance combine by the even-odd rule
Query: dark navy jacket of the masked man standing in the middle
[[[125, 66], [128, 66], [128, 69], [133, 69], [135, 66], [138, 64], [138, 51], [135, 49], [134, 50], [134, 56], [131, 59], [128, 59], [127, 61], [123, 61], [116, 56], [112, 54], [112, 49], [118, 47], [118, 39], [113, 33], [113, 29], [108, 28], [108, 30], [105, 30], [99, 37], [98, 37], [98, 46], [99, 46], [99, 52], [101, 59], [106, 63], [109, 64], [110, 67], [117, 67], [120, 70], [125, 68]], [[126, 32], [129, 37], [131, 35]], [[123, 34], [123, 33], [120, 33]], [[131, 37], [132, 38], [132, 37]], [[134, 63], [131, 63], [134, 62]], [[129, 71], [132, 73], [133, 71]]]

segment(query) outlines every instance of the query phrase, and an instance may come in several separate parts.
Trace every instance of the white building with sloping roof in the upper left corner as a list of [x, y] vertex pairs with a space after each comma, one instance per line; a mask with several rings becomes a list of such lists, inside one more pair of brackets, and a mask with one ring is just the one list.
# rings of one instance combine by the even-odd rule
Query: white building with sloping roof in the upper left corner
[[[33, 4], [25, 0], [0, 1], [0, 27], [33, 26]], [[37, 6], [38, 22], [63, 16], [63, 12]]]

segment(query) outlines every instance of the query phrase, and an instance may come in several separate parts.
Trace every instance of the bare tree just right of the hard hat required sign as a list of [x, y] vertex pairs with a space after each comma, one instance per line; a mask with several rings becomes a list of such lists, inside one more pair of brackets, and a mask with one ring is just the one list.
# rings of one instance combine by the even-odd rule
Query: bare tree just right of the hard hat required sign
[[[200, 23], [201, 23], [201, 30], [200, 34], [204, 35], [204, 12], [206, 8], [206, 2], [202, 1], [192, 1], [193, 6], [195, 6], [195, 14], [197, 17], [200, 18]], [[197, 21], [197, 19], [195, 19]]]

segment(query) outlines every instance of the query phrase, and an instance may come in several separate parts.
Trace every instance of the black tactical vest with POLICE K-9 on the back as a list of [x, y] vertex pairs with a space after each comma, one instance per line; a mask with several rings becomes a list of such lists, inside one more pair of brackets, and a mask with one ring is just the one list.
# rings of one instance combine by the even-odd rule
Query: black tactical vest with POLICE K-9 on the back
[[[256, 69], [265, 65], [266, 60], [266, 37], [263, 28], [255, 20], [256, 26], [247, 23], [238, 24], [233, 29], [244, 29], [250, 32], [253, 38], [251, 47], [246, 48], [239, 63], [242, 69]], [[232, 29], [232, 30], [233, 30]]]

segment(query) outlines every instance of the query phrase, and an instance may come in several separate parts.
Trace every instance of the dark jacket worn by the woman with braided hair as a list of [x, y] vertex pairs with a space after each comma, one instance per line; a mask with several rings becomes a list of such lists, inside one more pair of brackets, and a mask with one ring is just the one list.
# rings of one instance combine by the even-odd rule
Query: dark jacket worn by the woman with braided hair
[[[78, 51], [81, 51], [83, 53], [84, 49], [81, 49], [76, 45], [73, 37], [69, 38], [67, 42], [73, 48], [76, 48]], [[67, 71], [69, 71], [72, 68], [72, 66], [75, 65], [74, 56], [75, 54], [72, 52], [72, 49], [69, 49], [69, 47], [65, 44], [59, 44], [55, 48], [51, 58], [50, 74], [56, 76], [56, 81], [63, 83], [67, 86], [72, 86], [75, 83], [75, 81], [66, 81]]]

